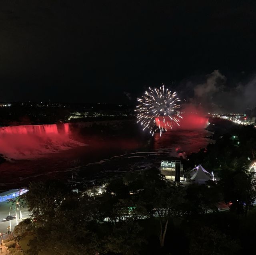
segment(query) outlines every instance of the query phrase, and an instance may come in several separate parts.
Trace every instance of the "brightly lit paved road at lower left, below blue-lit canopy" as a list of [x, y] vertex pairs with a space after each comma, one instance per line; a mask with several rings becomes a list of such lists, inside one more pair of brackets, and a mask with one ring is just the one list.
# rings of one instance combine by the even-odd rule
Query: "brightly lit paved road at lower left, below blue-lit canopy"
[[[3, 238], [6, 238], [5, 233], [8, 233], [8, 226], [11, 225], [11, 229], [13, 231], [14, 227], [17, 225], [17, 223], [19, 223], [20, 221], [22, 221], [22, 219], [25, 219], [27, 217], [29, 217], [29, 212], [26, 208], [26, 204], [24, 203], [24, 208], [20, 209], [20, 210], [15, 210], [15, 206], [16, 204], [14, 203], [12, 205], [12, 202], [1, 202], [0, 203], [0, 233], [4, 233]], [[4, 219], [7, 215], [13, 215], [16, 216], [17, 215], [17, 219], [16, 217], [10, 221], [2, 221], [2, 219]]]

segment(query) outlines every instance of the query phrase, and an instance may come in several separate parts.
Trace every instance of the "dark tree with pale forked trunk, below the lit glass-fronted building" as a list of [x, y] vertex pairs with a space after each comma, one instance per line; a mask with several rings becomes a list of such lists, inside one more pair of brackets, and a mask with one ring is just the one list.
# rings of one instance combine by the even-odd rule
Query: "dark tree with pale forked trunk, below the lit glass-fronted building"
[[[128, 224], [131, 219], [136, 223], [137, 220], [151, 218], [158, 223], [156, 233], [160, 246], [163, 247], [169, 221], [182, 214], [184, 189], [167, 182], [156, 168], [135, 173], [132, 178], [126, 176], [125, 183], [119, 180], [117, 184], [108, 187], [108, 190], [115, 194], [112, 210], [108, 212], [108, 219], [115, 226], [113, 231], [120, 231], [120, 222], [127, 224], [126, 227], [121, 224], [121, 229], [132, 231], [131, 223]], [[129, 190], [133, 191], [132, 195], [129, 195]], [[114, 200], [117, 197], [126, 199], [119, 199], [117, 202]], [[132, 208], [132, 211], [129, 208]]]

